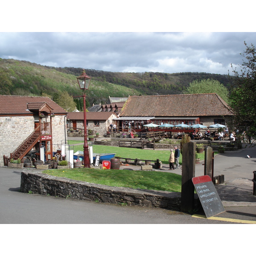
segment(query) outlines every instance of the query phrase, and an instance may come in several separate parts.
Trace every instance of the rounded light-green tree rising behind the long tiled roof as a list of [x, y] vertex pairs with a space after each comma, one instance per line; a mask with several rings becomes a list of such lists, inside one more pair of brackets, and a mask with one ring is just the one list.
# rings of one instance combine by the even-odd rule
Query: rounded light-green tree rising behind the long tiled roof
[[194, 80], [189, 83], [187, 93], [217, 93], [225, 102], [229, 101], [229, 91], [218, 80], [203, 79], [201, 81]]

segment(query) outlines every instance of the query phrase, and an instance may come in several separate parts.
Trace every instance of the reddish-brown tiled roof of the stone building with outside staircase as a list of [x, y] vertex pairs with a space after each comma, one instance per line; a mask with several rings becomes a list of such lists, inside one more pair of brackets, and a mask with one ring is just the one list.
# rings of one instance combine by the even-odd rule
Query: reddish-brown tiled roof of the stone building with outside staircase
[[0, 95], [0, 114], [31, 114], [44, 103], [47, 103], [55, 114], [67, 113], [48, 97]]

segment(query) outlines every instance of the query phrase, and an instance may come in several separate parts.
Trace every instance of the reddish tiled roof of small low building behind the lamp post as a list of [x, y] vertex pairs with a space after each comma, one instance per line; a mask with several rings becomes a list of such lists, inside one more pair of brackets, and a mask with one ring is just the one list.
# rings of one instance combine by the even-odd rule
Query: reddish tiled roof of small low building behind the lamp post
[[[117, 115], [114, 112], [103, 111], [103, 112], [86, 112], [86, 120], [107, 120], [112, 115]], [[71, 120], [84, 120], [84, 112], [68, 112], [67, 118]]]

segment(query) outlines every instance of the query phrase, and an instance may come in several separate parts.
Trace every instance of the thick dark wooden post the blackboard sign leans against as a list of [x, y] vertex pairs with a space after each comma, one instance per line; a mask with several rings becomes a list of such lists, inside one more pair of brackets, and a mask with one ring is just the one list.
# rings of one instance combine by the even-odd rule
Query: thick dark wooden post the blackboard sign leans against
[[182, 145], [182, 178], [181, 205], [183, 212], [192, 212], [194, 208], [195, 187], [192, 178], [195, 177], [195, 142]]

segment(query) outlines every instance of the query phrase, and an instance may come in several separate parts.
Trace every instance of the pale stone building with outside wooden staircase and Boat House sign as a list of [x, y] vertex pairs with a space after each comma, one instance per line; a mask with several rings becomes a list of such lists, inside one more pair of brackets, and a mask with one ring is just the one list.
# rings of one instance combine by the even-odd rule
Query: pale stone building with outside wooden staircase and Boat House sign
[[48, 97], [0, 95], [0, 166], [45, 147], [46, 160], [67, 140], [67, 112]]

